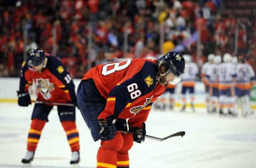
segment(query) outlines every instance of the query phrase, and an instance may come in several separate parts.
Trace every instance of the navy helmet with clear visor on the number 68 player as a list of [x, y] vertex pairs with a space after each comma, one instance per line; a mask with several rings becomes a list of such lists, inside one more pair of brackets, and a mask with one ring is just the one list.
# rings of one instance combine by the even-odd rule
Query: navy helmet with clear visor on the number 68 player
[[173, 73], [176, 78], [171, 84], [175, 85], [181, 81], [185, 69], [185, 60], [181, 53], [169, 52], [161, 56], [156, 63], [159, 77], [166, 77], [168, 74]]

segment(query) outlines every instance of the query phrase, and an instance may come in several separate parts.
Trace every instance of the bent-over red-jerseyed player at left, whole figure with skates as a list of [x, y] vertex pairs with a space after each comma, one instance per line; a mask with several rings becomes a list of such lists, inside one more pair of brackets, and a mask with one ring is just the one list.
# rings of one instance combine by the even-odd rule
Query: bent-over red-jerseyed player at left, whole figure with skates
[[[28, 53], [26, 62], [22, 64], [20, 87], [17, 91], [20, 106], [31, 104], [28, 88], [33, 81], [38, 90], [38, 101], [74, 104], [74, 106], [58, 105], [57, 109], [72, 152], [70, 164], [76, 165], [80, 161], [80, 147], [75, 123], [77, 100], [73, 80], [57, 57], [47, 55], [41, 49], [35, 48]], [[27, 138], [27, 153], [22, 163], [29, 164], [33, 161], [42, 130], [52, 108], [53, 104], [50, 103], [35, 104]]]

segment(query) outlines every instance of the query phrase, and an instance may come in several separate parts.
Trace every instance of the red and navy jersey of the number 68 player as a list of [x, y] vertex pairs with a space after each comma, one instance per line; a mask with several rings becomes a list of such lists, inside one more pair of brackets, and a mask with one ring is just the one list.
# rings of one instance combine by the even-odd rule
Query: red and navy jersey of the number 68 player
[[93, 79], [100, 94], [107, 99], [98, 119], [114, 115], [129, 119], [132, 127], [146, 121], [154, 100], [166, 89], [156, 80], [156, 60], [134, 59], [98, 65], [82, 80]]

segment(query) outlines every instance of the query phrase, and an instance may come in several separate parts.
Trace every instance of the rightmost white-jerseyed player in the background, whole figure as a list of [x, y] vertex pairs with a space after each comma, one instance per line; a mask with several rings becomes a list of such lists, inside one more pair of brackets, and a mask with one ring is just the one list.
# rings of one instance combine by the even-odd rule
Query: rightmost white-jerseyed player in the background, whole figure
[[250, 108], [250, 90], [253, 87], [256, 79], [252, 66], [245, 63], [242, 55], [238, 56], [237, 64], [237, 78], [236, 78], [236, 96], [241, 105], [242, 115], [247, 116], [251, 113]]

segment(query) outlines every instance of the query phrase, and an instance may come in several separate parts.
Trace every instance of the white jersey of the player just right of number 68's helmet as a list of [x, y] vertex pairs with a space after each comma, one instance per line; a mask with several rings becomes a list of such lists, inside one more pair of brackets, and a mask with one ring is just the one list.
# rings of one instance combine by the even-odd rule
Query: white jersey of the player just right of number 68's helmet
[[194, 62], [188, 62], [185, 64], [185, 72], [182, 76], [183, 86], [193, 87], [195, 86], [196, 74], [198, 73], [197, 64]]

